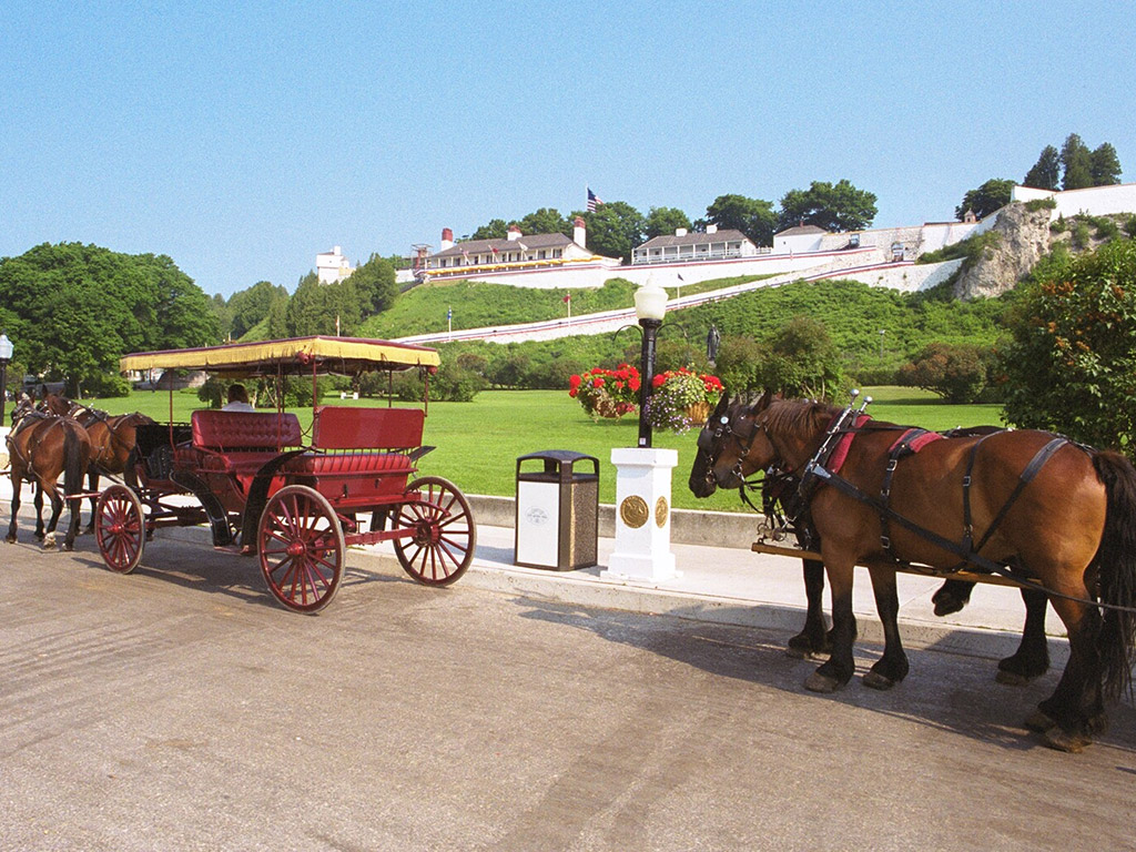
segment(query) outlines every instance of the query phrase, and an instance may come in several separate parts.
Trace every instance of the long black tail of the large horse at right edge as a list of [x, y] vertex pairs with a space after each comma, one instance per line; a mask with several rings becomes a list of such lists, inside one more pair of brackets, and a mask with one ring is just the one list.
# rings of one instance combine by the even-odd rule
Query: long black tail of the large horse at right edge
[[1116, 699], [1131, 691], [1136, 662], [1136, 468], [1112, 451], [1094, 453], [1093, 467], [1108, 500], [1104, 535], [1094, 560], [1100, 600], [1126, 608], [1103, 610], [1097, 634], [1101, 680], [1105, 694]]

